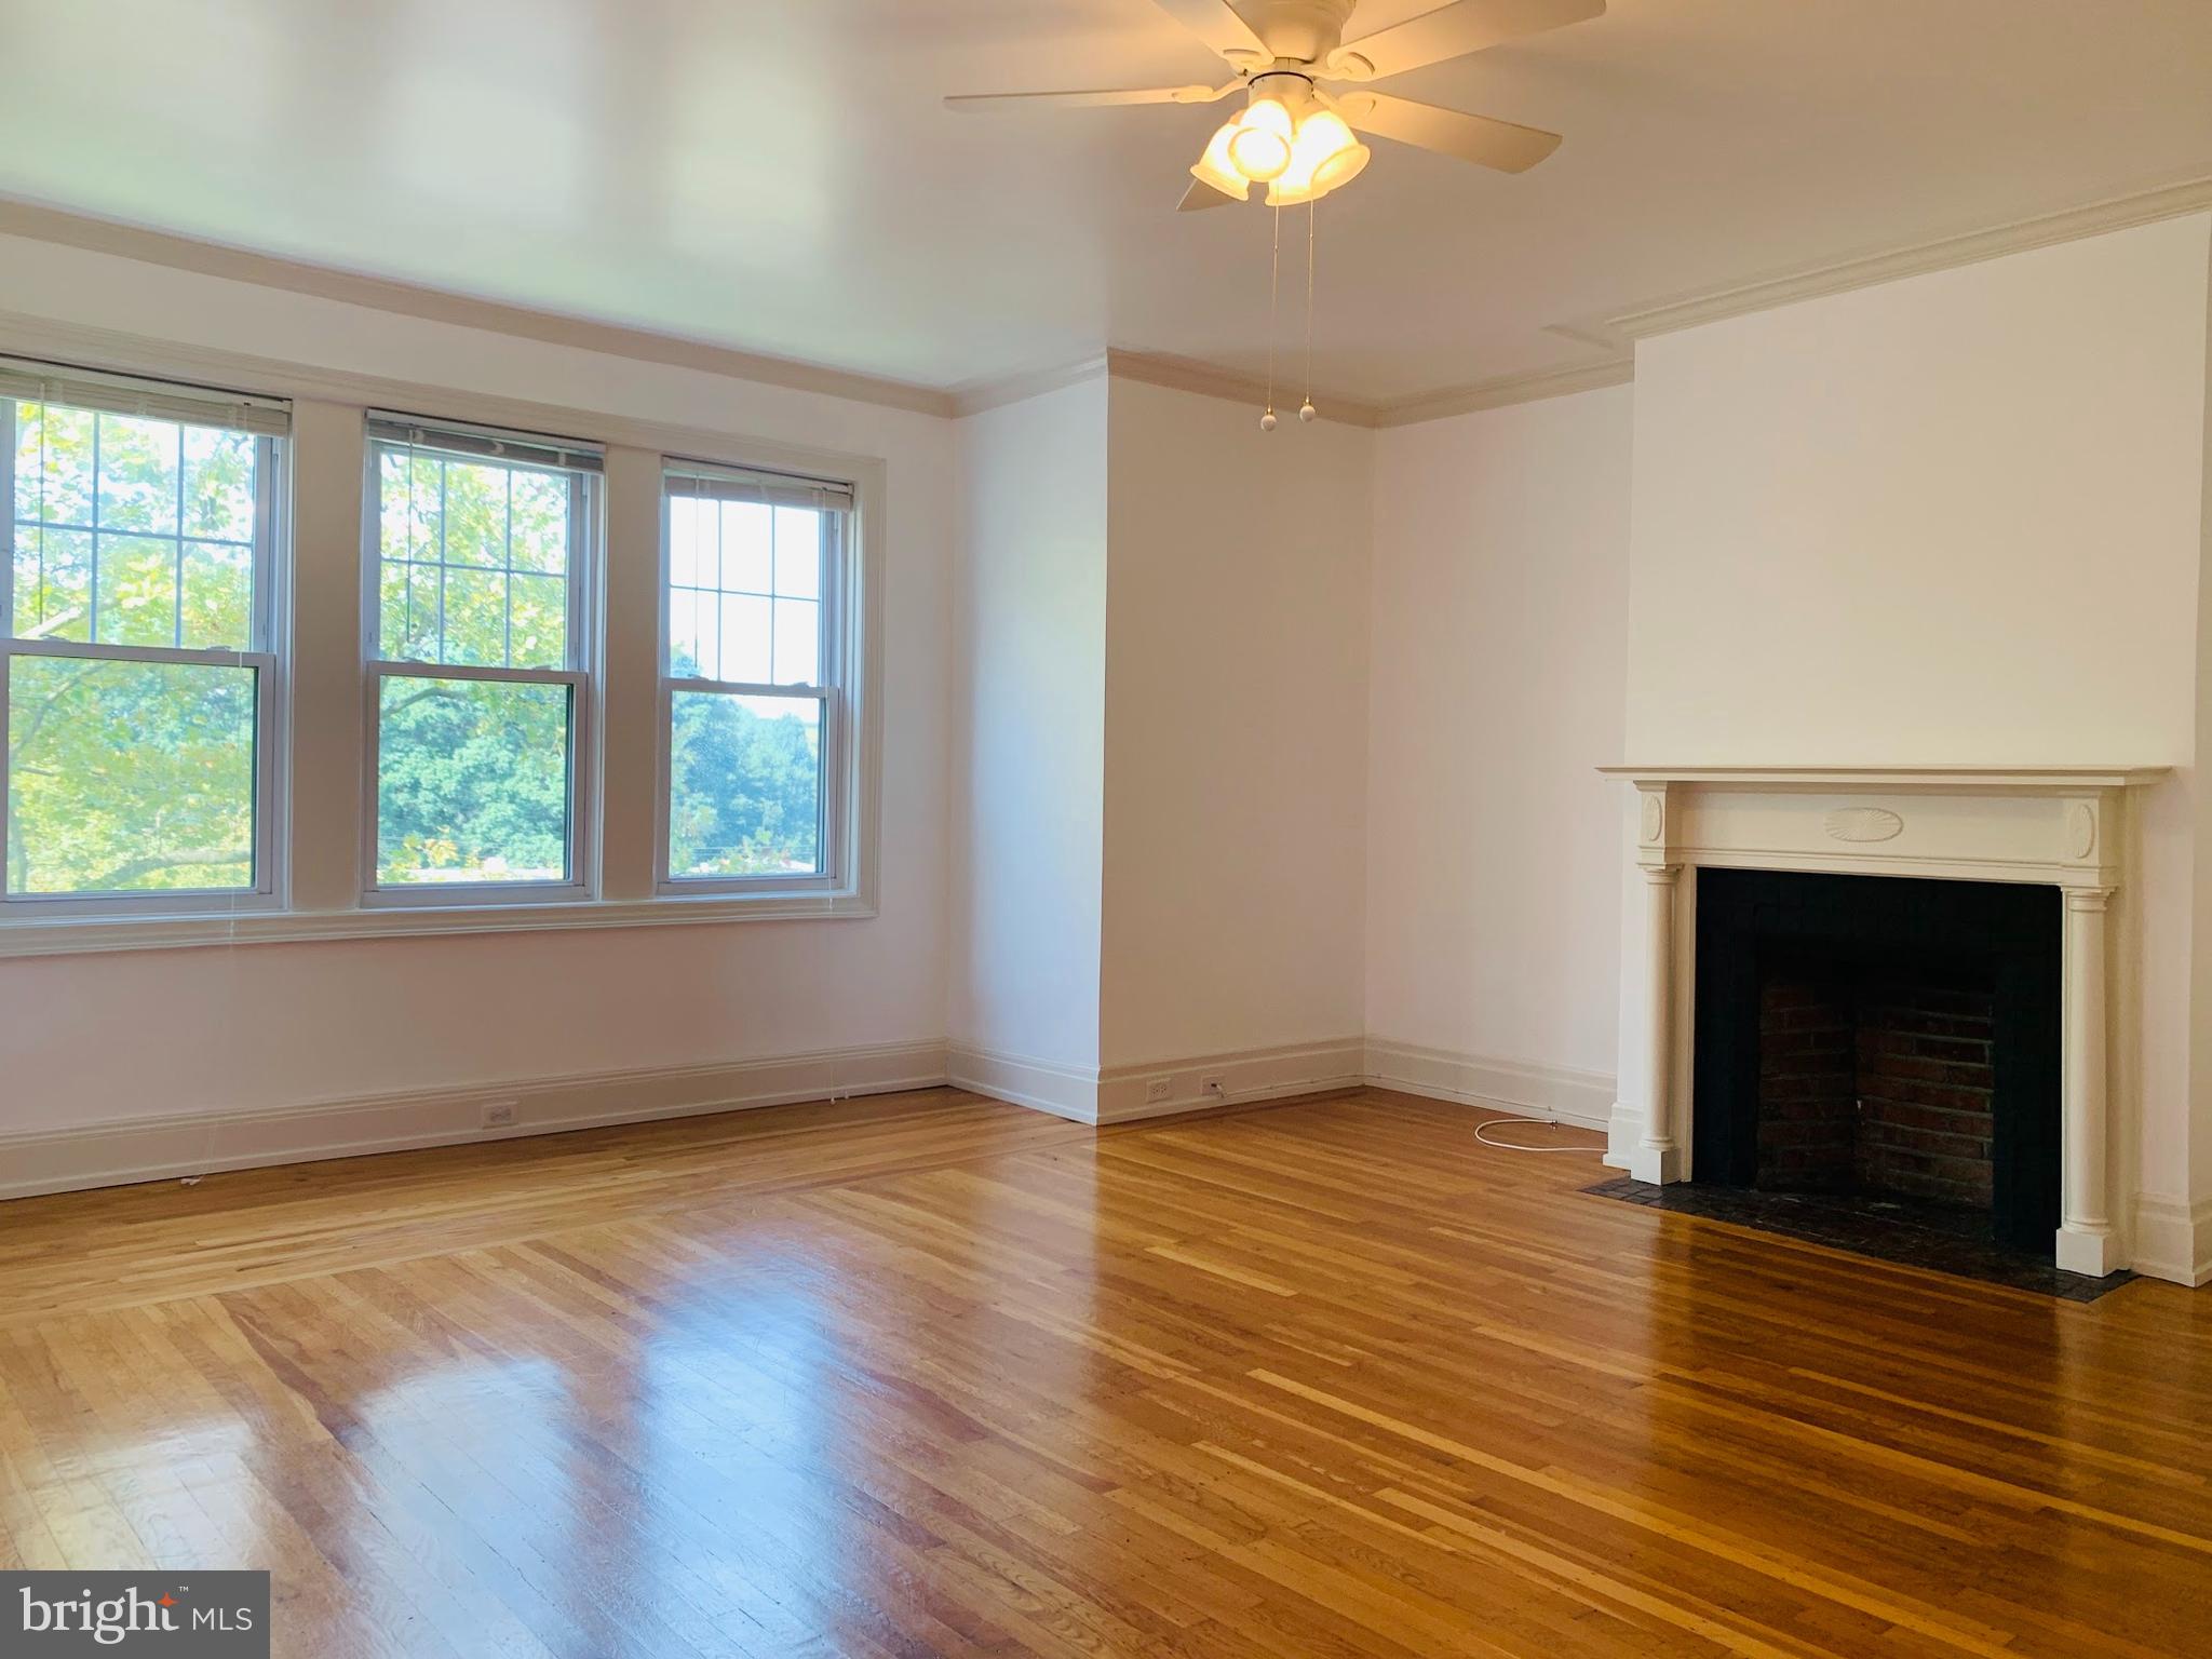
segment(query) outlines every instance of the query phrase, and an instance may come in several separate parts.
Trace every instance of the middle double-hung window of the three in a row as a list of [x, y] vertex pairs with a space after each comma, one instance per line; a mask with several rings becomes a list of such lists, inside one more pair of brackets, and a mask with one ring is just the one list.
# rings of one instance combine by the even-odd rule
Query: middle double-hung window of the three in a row
[[599, 451], [369, 416], [365, 898], [588, 898]]

